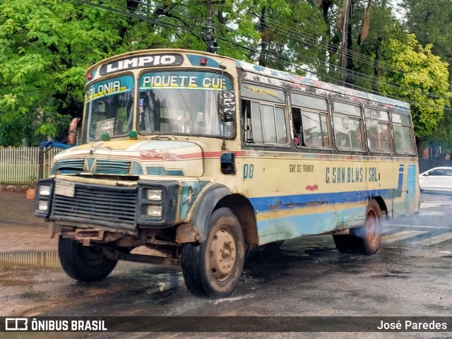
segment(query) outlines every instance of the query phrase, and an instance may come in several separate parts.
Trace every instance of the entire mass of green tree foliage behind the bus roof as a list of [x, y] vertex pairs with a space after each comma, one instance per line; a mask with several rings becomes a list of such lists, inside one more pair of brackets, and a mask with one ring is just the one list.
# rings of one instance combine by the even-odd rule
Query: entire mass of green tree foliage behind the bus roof
[[[383, 94], [412, 102], [416, 135], [425, 138], [450, 97], [446, 65], [435, 52], [451, 54], [446, 16], [452, 10], [443, 6], [440, 13], [427, 0], [403, 2], [415, 28], [415, 14], [432, 8], [446, 24], [425, 17], [428, 25], [418, 32], [423, 43], [405, 41], [388, 1], [373, 0], [371, 7], [369, 0], [352, 1], [347, 81], [369, 90], [378, 85]], [[220, 54], [293, 73], [308, 70], [325, 81], [339, 78], [343, 0], [212, 4]], [[71, 118], [83, 111], [85, 69], [105, 57], [138, 49], [206, 50], [206, 18], [204, 0], [0, 0], [0, 145], [66, 136]], [[433, 47], [424, 43], [432, 34]]]

